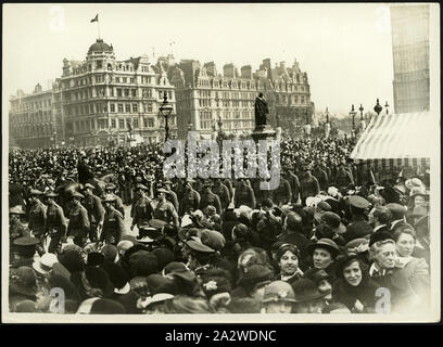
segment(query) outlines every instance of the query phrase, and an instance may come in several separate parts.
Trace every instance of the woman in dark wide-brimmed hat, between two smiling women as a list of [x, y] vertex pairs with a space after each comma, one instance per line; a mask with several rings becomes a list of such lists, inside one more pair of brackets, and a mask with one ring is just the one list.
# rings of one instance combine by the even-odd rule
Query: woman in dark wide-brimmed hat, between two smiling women
[[340, 254], [339, 246], [330, 239], [320, 239], [308, 245], [307, 249], [313, 257], [314, 268], [325, 270], [334, 279], [334, 260]]

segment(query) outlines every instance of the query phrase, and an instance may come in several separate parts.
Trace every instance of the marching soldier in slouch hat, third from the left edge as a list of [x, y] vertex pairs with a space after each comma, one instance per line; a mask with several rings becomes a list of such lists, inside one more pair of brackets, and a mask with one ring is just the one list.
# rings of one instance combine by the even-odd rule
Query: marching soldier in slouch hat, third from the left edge
[[47, 223], [45, 226], [45, 235], [51, 236], [51, 242], [48, 247], [49, 253], [56, 253], [61, 245], [62, 237], [66, 234], [66, 219], [63, 208], [55, 203], [55, 197], [59, 196], [52, 191], [46, 193], [48, 209]]

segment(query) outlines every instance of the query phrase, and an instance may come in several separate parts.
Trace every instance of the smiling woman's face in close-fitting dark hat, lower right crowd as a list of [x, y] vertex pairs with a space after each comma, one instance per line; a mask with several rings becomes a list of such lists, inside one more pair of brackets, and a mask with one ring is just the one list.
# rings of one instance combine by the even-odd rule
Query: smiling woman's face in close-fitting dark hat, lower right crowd
[[276, 260], [280, 270], [279, 278], [281, 281], [292, 285], [303, 275], [299, 268], [300, 250], [295, 245], [282, 244], [276, 253]]

